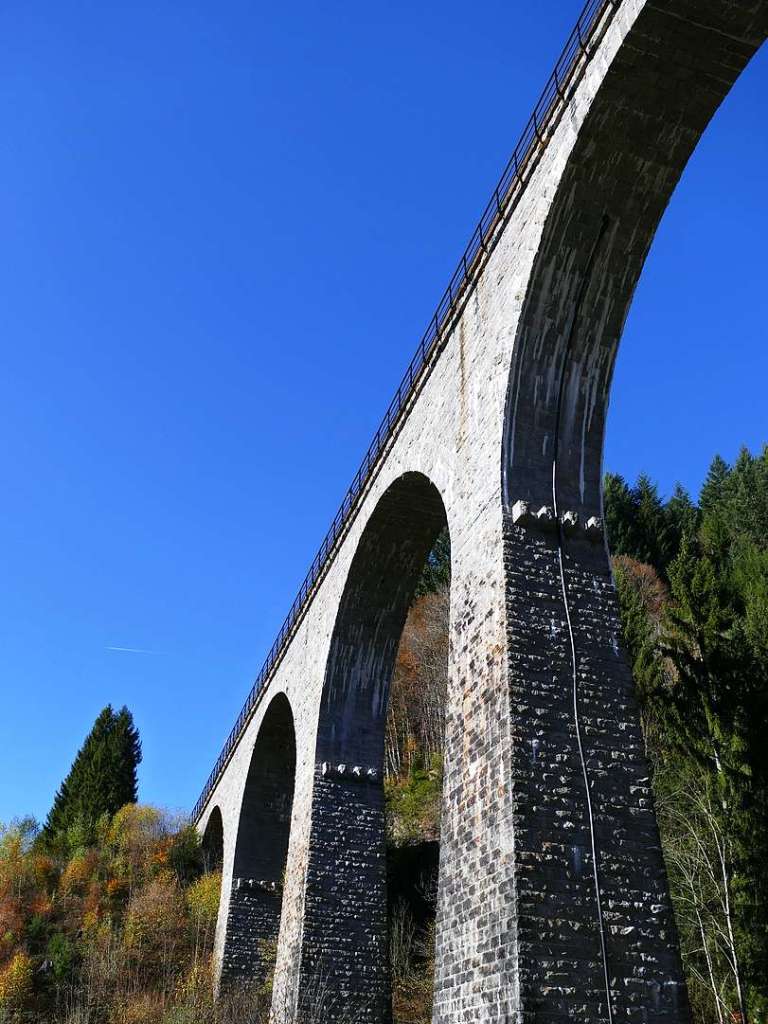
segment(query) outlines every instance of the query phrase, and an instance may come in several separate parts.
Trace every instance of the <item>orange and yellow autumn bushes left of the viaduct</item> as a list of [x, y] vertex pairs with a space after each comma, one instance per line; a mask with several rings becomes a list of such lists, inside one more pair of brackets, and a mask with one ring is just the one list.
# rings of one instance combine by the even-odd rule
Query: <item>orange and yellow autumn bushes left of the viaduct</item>
[[197, 831], [126, 804], [65, 839], [40, 842], [30, 819], [0, 828], [0, 1019], [217, 1019], [221, 877], [202, 873]]

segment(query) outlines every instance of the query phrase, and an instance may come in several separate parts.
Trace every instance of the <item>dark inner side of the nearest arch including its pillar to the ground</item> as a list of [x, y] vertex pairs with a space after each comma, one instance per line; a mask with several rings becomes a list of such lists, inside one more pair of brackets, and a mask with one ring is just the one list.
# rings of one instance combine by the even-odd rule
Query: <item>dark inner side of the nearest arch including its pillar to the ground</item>
[[[645, 1019], [676, 1021], [687, 1017], [687, 997], [634, 685], [617, 641], [603, 439], [618, 342], [656, 228], [696, 143], [768, 34], [768, 6], [618, 6], [608, 32], [622, 38], [612, 53], [604, 45], [602, 66], [588, 68], [559, 129], [561, 160], [507, 393], [510, 691], [513, 709], [531, 693], [537, 706], [513, 711], [511, 722], [516, 856], [541, 863], [546, 849], [548, 880], [543, 912], [543, 874], [517, 872], [517, 942], [526, 949], [518, 980], [521, 1002], [539, 1015], [577, 1019], [586, 1008], [588, 1019], [610, 1021], [644, 1008]], [[560, 794], [567, 831], [558, 823]], [[643, 906], [644, 925], [616, 911], [623, 906]], [[559, 934], [557, 919], [567, 923]], [[553, 950], [564, 965], [561, 987], [543, 999]], [[639, 968], [651, 958], [652, 970]]]

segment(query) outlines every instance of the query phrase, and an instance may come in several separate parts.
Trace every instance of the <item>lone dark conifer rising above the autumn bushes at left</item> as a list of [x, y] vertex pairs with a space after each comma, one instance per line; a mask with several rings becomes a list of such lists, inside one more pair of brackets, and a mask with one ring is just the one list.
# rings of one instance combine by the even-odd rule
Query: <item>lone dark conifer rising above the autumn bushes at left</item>
[[52, 840], [77, 827], [86, 834], [103, 815], [136, 802], [141, 743], [127, 708], [100, 713], [53, 801], [44, 837]]

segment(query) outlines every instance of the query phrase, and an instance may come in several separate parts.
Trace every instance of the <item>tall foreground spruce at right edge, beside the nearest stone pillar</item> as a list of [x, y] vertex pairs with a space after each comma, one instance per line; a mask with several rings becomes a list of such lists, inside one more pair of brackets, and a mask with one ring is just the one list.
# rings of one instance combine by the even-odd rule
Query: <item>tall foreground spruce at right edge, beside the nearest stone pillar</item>
[[[717, 515], [710, 506], [705, 520]], [[758, 1013], [768, 996], [768, 672], [728, 567], [695, 539], [683, 542], [671, 567], [674, 604], [663, 649], [675, 675], [666, 727], [671, 750], [705, 773], [724, 843], [740, 1009], [749, 1002]]]

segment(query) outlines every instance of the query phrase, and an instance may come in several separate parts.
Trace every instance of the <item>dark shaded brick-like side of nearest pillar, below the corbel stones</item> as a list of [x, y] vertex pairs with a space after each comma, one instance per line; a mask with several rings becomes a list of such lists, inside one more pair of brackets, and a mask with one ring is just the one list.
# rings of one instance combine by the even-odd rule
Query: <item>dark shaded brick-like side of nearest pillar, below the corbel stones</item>
[[511, 518], [506, 535], [521, 1019], [608, 1019], [602, 923], [613, 1019], [678, 1021], [685, 988], [603, 546], [565, 552], [583, 766], [557, 537]]

